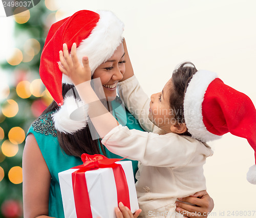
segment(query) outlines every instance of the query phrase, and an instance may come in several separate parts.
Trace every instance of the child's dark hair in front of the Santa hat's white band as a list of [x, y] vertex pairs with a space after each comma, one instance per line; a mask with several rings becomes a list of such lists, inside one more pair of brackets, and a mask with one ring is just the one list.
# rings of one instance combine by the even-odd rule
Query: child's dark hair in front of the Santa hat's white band
[[[185, 123], [183, 106], [184, 97], [187, 85], [196, 72], [197, 69], [191, 62], [181, 63], [180, 66], [173, 72], [173, 92], [170, 94], [169, 104], [174, 111], [173, 114], [178, 123]], [[191, 136], [191, 134], [188, 133], [188, 130], [181, 135]]]

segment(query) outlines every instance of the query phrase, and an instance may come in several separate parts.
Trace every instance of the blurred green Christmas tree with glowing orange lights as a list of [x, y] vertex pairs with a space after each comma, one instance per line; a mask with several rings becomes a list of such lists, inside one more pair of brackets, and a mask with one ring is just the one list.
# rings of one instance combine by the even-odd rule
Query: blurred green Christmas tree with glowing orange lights
[[[22, 217], [22, 154], [30, 124], [52, 98], [39, 79], [39, 60], [46, 34], [56, 21], [53, 0], [41, 1], [14, 15], [16, 49], [1, 64], [0, 217]], [[51, 4], [51, 5], [50, 5]], [[49, 10], [50, 9], [50, 10]], [[8, 79], [7, 79], [8, 80]]]

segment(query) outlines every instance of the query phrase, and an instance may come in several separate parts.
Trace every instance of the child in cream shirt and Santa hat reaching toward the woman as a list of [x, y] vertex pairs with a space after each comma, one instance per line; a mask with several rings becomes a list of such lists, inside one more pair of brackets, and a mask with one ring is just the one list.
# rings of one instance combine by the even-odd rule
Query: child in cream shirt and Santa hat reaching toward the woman
[[[72, 58], [65, 49], [64, 56], [60, 52], [62, 65], [59, 69], [72, 79], [81, 99], [88, 105], [89, 117], [102, 138], [102, 144], [115, 154], [141, 162], [136, 189], [142, 216], [182, 217], [175, 212], [177, 198], [206, 189], [203, 164], [206, 157], [212, 155], [212, 150], [201, 141], [230, 132], [247, 138], [256, 149], [254, 105], [247, 96], [225, 85], [215, 73], [197, 71], [193, 63], [181, 64], [163, 90], [151, 96], [148, 118], [161, 129], [163, 135], [146, 133], [119, 125], [105, 110], [91, 88], [89, 60], [83, 57], [82, 67], [76, 58], [75, 48], [74, 44]], [[130, 98], [146, 102], [138, 85], [130, 88]], [[238, 97], [242, 99], [239, 106], [225, 102], [229, 104], [227, 109], [221, 105], [223, 100]], [[91, 107], [95, 104], [97, 109]], [[233, 122], [230, 114], [239, 119], [248, 117], [246, 111], [238, 113], [241, 107], [251, 112], [249, 118], [254, 121], [246, 130], [246, 135], [243, 134], [243, 123], [237, 123], [236, 130], [230, 125]], [[228, 116], [225, 115], [227, 111]], [[255, 181], [254, 175], [250, 181]]]

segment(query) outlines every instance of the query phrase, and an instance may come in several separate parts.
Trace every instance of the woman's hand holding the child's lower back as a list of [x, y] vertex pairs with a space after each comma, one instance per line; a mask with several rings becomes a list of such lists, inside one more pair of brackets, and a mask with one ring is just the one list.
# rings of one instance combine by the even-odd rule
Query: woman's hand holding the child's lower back
[[189, 197], [180, 198], [178, 200], [196, 205], [191, 206], [186, 203], [176, 202], [176, 211], [183, 214], [184, 217], [205, 218], [208, 216], [209, 212], [214, 209], [214, 200], [212, 200], [206, 190], [196, 192]]

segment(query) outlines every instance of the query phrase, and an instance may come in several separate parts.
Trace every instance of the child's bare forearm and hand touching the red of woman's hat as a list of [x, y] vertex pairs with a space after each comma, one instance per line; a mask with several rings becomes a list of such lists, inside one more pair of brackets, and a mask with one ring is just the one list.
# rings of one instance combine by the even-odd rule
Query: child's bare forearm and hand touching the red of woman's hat
[[89, 67], [88, 57], [83, 57], [83, 66], [81, 66], [76, 55], [76, 43], [73, 43], [71, 48], [71, 57], [69, 56], [67, 45], [63, 44], [63, 52], [59, 52], [59, 59], [61, 63], [59, 64], [60, 71], [69, 76], [73, 81], [80, 98], [88, 106], [87, 112], [97, 130], [97, 133], [100, 138], [103, 138], [113, 128], [118, 126], [119, 123], [115, 117], [106, 110], [92, 89], [91, 69]]

